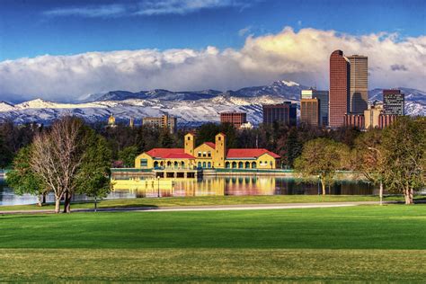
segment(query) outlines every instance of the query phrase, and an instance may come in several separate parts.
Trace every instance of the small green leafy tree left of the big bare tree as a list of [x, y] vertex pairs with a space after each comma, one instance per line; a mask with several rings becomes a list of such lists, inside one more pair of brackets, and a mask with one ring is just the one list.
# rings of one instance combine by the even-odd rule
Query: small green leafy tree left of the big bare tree
[[30, 193], [38, 196], [38, 205], [46, 203], [48, 190], [40, 177], [31, 169], [31, 146], [21, 148], [13, 159], [13, 169], [7, 173], [7, 183], [16, 194]]

